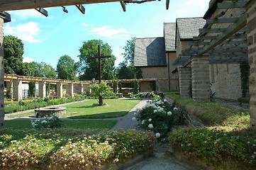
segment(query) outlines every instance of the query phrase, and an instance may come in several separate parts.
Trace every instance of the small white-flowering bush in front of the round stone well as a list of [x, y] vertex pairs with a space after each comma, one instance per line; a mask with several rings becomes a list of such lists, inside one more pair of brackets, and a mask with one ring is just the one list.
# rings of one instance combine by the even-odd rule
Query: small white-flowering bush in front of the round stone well
[[62, 120], [58, 118], [57, 115], [46, 115], [45, 119], [36, 119], [31, 120], [33, 128], [42, 129], [42, 128], [60, 128], [62, 127]]

